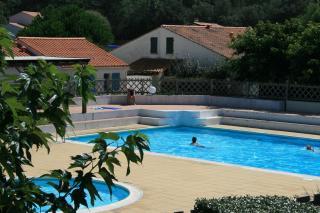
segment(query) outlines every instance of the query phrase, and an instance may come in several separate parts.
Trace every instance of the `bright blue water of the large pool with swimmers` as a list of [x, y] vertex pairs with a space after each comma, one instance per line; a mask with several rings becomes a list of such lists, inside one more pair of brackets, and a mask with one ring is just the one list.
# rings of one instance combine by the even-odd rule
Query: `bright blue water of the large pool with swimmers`
[[[140, 132], [149, 136], [151, 151], [156, 153], [320, 176], [319, 140], [200, 127], [169, 127]], [[130, 133], [119, 134], [126, 137]], [[69, 139], [87, 143], [96, 136]], [[193, 136], [205, 148], [190, 146]], [[307, 151], [307, 145], [313, 146], [315, 152]]]

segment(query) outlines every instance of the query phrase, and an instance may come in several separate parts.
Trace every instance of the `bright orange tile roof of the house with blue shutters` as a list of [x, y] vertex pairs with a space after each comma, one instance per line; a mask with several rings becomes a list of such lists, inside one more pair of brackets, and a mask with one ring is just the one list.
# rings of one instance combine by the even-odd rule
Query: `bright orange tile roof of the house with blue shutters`
[[126, 67], [127, 63], [86, 38], [18, 37], [17, 43], [38, 56], [90, 58], [95, 67]]

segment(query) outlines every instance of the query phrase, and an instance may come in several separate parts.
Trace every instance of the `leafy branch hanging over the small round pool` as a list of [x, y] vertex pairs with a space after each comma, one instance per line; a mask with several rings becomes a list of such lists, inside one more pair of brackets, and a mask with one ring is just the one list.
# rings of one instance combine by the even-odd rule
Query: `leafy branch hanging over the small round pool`
[[[120, 142], [119, 142], [120, 140]], [[53, 170], [43, 177], [55, 178], [59, 183], [50, 184], [60, 193], [59, 197], [54, 197], [50, 201], [51, 208], [48, 211], [55, 212], [64, 204], [64, 212], [77, 210], [80, 205], [88, 207], [85, 199], [86, 190], [90, 195], [91, 205], [97, 198], [101, 199], [98, 191], [94, 187], [93, 179], [102, 177], [105, 181], [110, 196], [112, 195], [113, 181], [115, 177], [115, 167], [120, 167], [118, 159], [120, 154], [124, 154], [127, 160], [127, 175], [130, 174], [130, 163], [142, 163], [143, 151], [149, 150], [148, 137], [141, 133], [129, 135], [126, 139], [120, 138], [115, 133], [99, 133], [99, 137], [90, 141], [93, 144], [92, 153], [85, 153], [73, 156], [69, 169], [76, 169], [74, 175], [69, 171]], [[119, 143], [121, 143], [119, 145]], [[136, 153], [135, 150], [138, 150]], [[62, 194], [61, 194], [62, 193]], [[71, 197], [74, 206], [66, 205], [68, 196]]]

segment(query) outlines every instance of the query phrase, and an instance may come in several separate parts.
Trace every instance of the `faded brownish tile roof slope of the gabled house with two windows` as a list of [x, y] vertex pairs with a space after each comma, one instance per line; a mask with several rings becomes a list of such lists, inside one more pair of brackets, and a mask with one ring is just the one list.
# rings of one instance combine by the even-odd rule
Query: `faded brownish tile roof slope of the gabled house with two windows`
[[162, 25], [161, 27], [189, 39], [224, 57], [231, 58], [234, 51], [229, 47], [232, 37], [246, 31], [245, 27], [209, 25]]

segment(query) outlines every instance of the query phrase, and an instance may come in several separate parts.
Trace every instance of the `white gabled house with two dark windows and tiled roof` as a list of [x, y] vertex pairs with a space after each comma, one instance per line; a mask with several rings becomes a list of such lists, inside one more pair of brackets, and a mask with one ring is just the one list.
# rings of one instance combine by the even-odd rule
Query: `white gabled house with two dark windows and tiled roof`
[[[112, 51], [131, 70], [165, 71], [170, 60], [194, 59], [203, 66], [214, 65], [233, 56], [229, 47], [245, 27], [225, 27], [213, 23], [162, 25]], [[159, 67], [161, 63], [163, 69]]]

